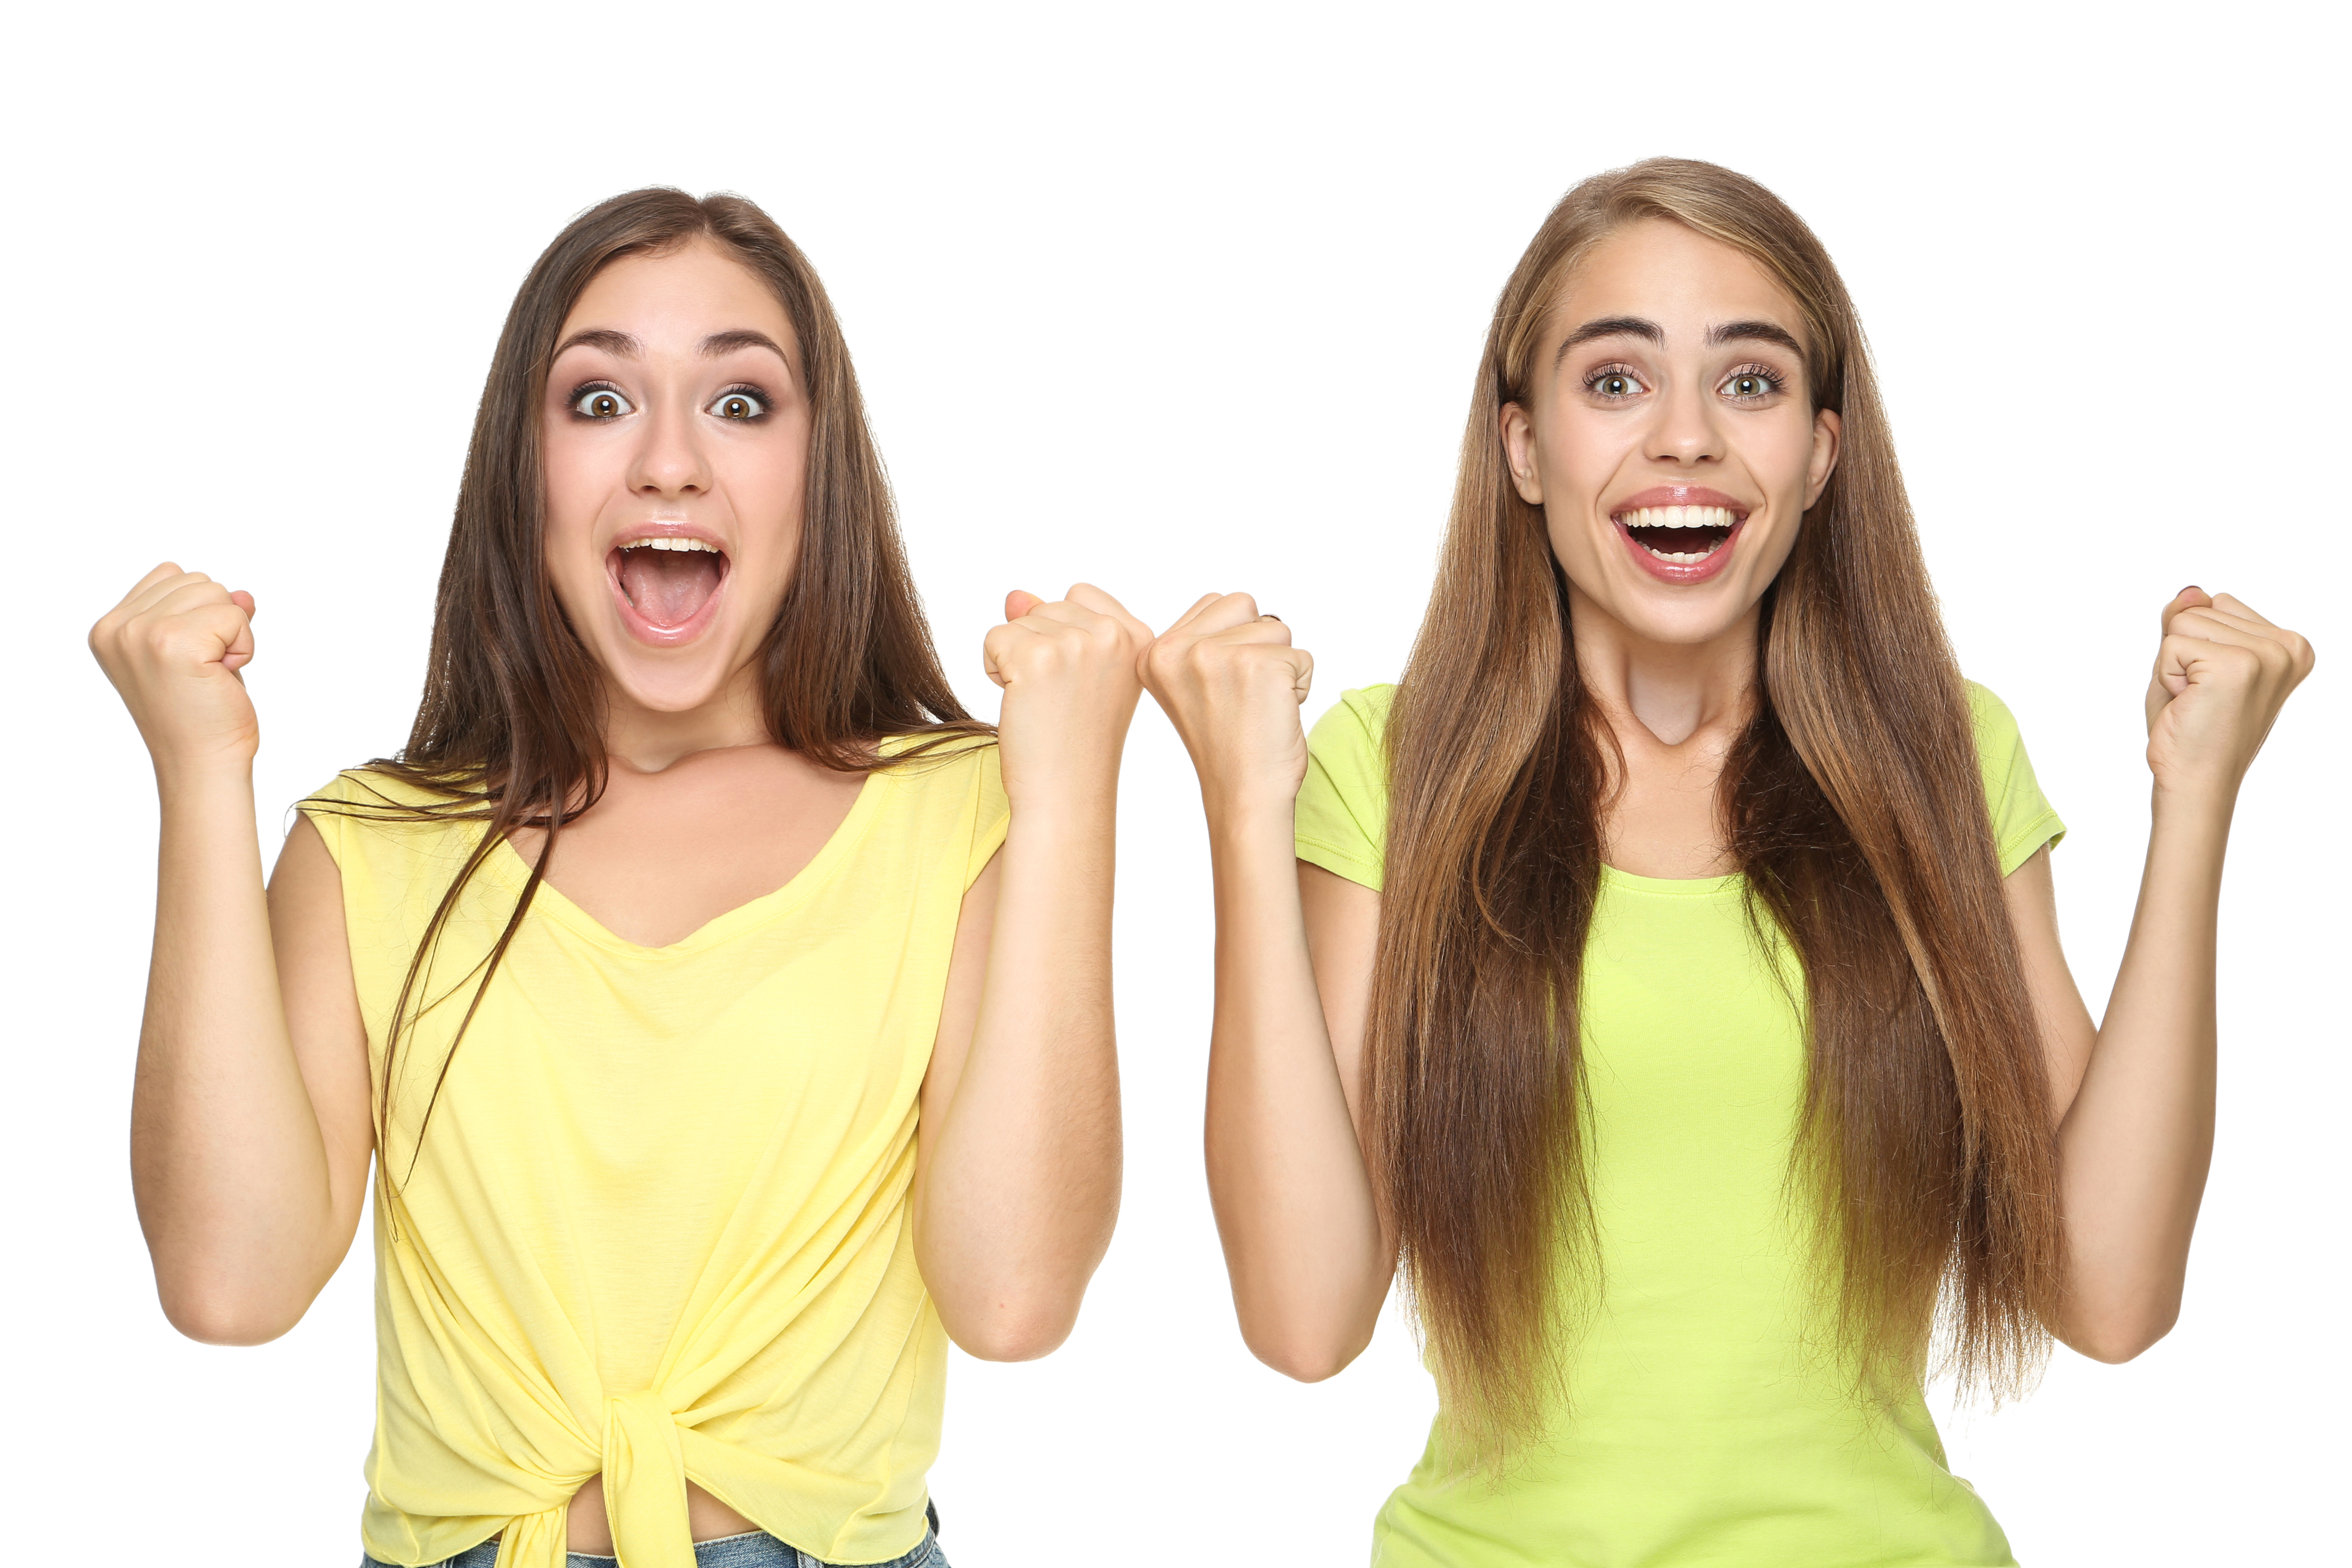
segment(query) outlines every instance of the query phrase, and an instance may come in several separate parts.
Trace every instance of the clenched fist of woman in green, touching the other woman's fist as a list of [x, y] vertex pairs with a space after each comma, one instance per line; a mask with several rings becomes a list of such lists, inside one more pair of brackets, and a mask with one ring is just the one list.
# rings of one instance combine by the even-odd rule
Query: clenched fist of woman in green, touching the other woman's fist
[[1143, 684], [1167, 710], [1211, 813], [1289, 804], [1308, 773], [1298, 705], [1315, 656], [1247, 592], [1204, 595], [1143, 654]]

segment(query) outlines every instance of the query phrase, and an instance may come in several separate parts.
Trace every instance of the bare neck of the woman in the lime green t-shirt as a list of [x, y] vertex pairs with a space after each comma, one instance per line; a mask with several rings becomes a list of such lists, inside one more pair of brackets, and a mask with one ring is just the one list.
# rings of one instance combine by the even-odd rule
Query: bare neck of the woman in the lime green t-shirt
[[1745, 724], [1755, 701], [1762, 614], [1755, 604], [1705, 642], [1658, 642], [1569, 583], [1576, 672], [1621, 741], [1679, 748], [1691, 738], [1726, 741]]

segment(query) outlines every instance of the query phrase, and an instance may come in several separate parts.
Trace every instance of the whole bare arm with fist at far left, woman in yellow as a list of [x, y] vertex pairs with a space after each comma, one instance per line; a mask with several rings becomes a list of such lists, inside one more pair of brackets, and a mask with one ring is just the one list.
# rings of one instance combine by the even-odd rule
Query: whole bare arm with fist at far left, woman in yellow
[[89, 635], [162, 804], [132, 1192], [165, 1316], [228, 1345], [308, 1309], [350, 1248], [372, 1150], [341, 882], [308, 823], [261, 884], [259, 726], [235, 675], [249, 616], [252, 599], [158, 567]]

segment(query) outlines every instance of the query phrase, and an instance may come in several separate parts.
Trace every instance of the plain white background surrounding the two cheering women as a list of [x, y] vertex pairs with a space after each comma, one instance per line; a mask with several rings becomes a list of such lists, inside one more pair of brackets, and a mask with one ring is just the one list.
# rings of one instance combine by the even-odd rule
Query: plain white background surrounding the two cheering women
[[[2333, 7], [2331, 7], [2333, 12]], [[2225, 1107], [2178, 1331], [1947, 1422], [2025, 1563], [2343, 1561], [2340, 24], [2319, 7], [52, 7], [9, 24], [0, 440], [19, 804], [0, 1192], [12, 1563], [348, 1563], [365, 1241], [261, 1349], [176, 1338], [125, 1175], [153, 790], [82, 635], [252, 588], [285, 802], [393, 750], [499, 322], [579, 209], [741, 190], [847, 322], [967, 701], [1014, 585], [1249, 588], [1319, 710], [1390, 679], [1486, 310], [1649, 153], [1785, 195], [1877, 346], [1962, 663], [2072, 825], [2093, 1009], [2145, 842], [2154, 611], [2321, 646], [2246, 788]], [[1122, 820], [1127, 1208], [1077, 1335], [957, 1359], [957, 1568], [1357, 1563], [1418, 1453], [1399, 1324], [1256, 1366], [1200, 1171], [1207, 865], [1145, 703]]]

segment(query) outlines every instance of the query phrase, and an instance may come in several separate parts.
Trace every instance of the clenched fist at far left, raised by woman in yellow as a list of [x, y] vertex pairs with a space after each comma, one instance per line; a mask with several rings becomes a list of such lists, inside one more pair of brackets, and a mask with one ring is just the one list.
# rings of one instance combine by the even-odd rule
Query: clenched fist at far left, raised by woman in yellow
[[249, 592], [165, 562], [89, 628], [89, 651], [158, 773], [252, 766], [261, 722], [238, 675], [254, 658]]

